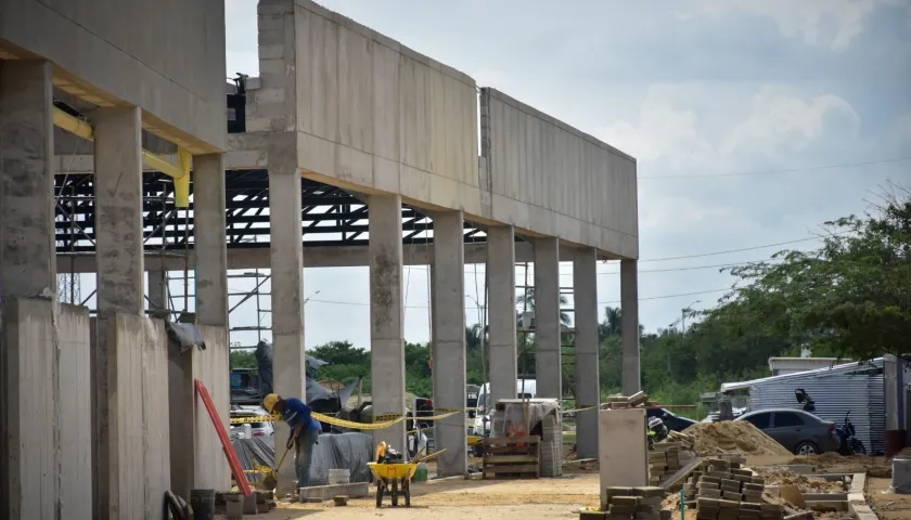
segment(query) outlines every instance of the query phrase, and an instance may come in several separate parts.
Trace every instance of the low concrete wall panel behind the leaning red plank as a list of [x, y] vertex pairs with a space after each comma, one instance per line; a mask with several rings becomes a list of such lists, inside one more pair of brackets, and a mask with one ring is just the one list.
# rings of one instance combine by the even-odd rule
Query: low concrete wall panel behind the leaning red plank
[[231, 410], [228, 333], [220, 327], [197, 327], [206, 350], [168, 348], [171, 490], [188, 500], [192, 489], [227, 490], [231, 481], [221, 442], [193, 384], [200, 379], [206, 386], [227, 430]]

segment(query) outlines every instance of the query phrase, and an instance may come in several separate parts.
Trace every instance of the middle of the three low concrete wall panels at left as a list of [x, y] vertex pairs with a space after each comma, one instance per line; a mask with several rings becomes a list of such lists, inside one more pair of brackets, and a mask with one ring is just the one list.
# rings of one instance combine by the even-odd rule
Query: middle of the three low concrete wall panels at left
[[108, 314], [98, 318], [95, 328], [95, 514], [102, 518], [163, 518], [164, 493], [170, 489], [164, 323]]

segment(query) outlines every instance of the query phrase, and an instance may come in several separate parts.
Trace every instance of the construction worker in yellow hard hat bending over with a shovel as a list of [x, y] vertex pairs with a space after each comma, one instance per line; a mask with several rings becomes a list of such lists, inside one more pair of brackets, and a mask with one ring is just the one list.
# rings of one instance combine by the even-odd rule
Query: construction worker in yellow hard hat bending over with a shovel
[[285, 447], [291, 450], [295, 444], [294, 469], [297, 473], [297, 486], [310, 485], [310, 463], [313, 456], [313, 444], [318, 442], [320, 422], [311, 415], [312, 410], [299, 399], [282, 399], [278, 393], [270, 393], [262, 399], [262, 407], [270, 414], [281, 414], [291, 428]]

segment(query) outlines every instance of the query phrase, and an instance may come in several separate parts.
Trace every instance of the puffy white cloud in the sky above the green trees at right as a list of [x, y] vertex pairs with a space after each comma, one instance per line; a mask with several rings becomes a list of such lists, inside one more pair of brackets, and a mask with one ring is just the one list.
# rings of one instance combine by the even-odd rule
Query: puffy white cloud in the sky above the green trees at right
[[753, 98], [749, 117], [737, 123], [722, 141], [720, 152], [731, 155], [753, 150], [773, 153], [782, 146], [805, 147], [823, 134], [830, 113], [846, 115], [856, 130], [860, 117], [850, 103], [837, 95], [819, 95], [801, 100], [784, 94], [760, 93]]

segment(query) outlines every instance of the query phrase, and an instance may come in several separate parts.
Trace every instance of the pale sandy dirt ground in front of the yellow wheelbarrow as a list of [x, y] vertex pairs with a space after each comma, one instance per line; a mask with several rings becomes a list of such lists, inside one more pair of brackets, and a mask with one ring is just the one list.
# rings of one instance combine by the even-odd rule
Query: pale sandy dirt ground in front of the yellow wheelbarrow
[[376, 509], [371, 496], [351, 499], [346, 507], [323, 504], [281, 504], [262, 520], [321, 520], [329, 518], [395, 518], [402, 520], [544, 520], [578, 518], [582, 507], [598, 506], [598, 474], [568, 473], [556, 479], [466, 481], [449, 480], [412, 484], [411, 508]]

